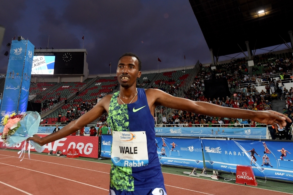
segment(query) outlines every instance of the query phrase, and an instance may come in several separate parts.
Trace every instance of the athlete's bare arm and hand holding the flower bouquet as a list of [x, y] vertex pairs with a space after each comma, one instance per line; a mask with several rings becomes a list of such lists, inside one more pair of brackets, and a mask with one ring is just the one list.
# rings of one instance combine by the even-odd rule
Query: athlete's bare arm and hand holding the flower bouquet
[[77, 120], [74, 120], [70, 122], [68, 125], [64, 126], [59, 131], [56, 131], [55, 133], [52, 133], [46, 137], [39, 137], [38, 135], [34, 135], [31, 138], [28, 138], [29, 140], [33, 140], [34, 142], [40, 144], [41, 146], [50, 143], [52, 141], [56, 141], [58, 139], [64, 138], [66, 136], [69, 136], [70, 134], [76, 132], [77, 130], [81, 129], [82, 127], [86, 126], [90, 122], [94, 121], [98, 117], [100, 117], [103, 113], [108, 111], [108, 108], [106, 110], [106, 105], [108, 104], [112, 96], [107, 95], [104, 98], [102, 98], [90, 111], [83, 114], [81, 117], [79, 117]]

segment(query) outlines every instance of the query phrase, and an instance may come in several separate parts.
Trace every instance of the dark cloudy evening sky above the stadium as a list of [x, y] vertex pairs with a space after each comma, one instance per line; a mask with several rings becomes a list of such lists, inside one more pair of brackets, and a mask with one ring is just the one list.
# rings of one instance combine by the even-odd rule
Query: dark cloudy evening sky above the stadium
[[[125, 52], [142, 60], [142, 70], [209, 63], [209, 48], [188, 0], [180, 1], [0, 1], [0, 25], [6, 28], [0, 51], [0, 73], [6, 73], [3, 54], [16, 35], [38, 47], [84, 48], [90, 74], [110, 73]], [[115, 68], [112, 67], [112, 73]]]

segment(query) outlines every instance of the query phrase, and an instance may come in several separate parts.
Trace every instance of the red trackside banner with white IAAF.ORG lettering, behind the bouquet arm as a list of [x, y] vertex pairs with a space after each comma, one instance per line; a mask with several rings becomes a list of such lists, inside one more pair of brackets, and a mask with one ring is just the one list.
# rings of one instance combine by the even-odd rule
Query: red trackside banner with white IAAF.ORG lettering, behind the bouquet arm
[[[38, 136], [45, 137], [47, 135]], [[2, 140], [0, 141], [2, 142]], [[49, 153], [50, 150], [53, 150], [53, 153], [56, 153], [57, 150], [61, 150], [64, 155], [67, 155], [68, 148], [76, 148], [79, 151], [79, 156], [98, 158], [98, 143], [99, 137], [96, 136], [67, 136], [44, 145], [45, 150], [43, 153]], [[11, 149], [21, 150], [23, 144], [24, 141], [17, 146], [11, 147]], [[28, 144], [26, 144], [26, 147], [28, 147]], [[35, 151], [33, 146], [30, 150]]]

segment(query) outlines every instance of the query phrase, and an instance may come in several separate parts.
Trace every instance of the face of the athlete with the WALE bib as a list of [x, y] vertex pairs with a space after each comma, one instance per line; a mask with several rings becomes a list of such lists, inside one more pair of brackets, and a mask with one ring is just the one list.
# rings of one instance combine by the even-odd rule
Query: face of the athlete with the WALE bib
[[138, 60], [136, 57], [124, 56], [118, 61], [116, 71], [117, 79], [124, 88], [136, 85], [136, 79], [142, 75], [139, 71]]

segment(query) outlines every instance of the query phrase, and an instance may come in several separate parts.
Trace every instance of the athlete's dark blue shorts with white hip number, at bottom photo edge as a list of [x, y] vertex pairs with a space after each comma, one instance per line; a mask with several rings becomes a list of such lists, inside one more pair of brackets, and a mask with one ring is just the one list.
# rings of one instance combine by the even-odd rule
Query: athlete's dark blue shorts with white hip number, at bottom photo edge
[[165, 186], [147, 190], [117, 191], [110, 187], [109, 195], [167, 195]]

